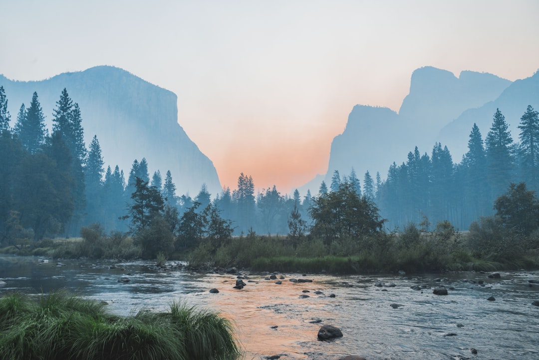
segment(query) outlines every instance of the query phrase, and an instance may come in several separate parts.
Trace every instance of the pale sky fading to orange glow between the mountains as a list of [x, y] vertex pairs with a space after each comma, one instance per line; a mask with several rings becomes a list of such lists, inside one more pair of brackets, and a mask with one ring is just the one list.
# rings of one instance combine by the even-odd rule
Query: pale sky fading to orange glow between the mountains
[[0, 74], [121, 67], [178, 95], [222, 185], [289, 192], [326, 173], [354, 105], [398, 112], [416, 68], [533, 75], [538, 16], [536, 0], [0, 0]]

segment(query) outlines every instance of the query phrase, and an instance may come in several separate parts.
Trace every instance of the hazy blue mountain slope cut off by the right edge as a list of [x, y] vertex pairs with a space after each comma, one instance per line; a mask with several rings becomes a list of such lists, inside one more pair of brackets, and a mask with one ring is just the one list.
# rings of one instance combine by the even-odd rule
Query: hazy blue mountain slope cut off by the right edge
[[467, 151], [468, 135], [473, 124], [477, 124], [484, 140], [492, 126], [494, 113], [499, 108], [505, 116], [513, 141], [518, 142], [520, 130], [517, 126], [528, 105], [539, 109], [539, 71], [529, 78], [516, 80], [495, 100], [478, 108], [467, 109], [440, 130], [438, 139], [449, 149], [454, 149], [453, 160], [460, 161]]

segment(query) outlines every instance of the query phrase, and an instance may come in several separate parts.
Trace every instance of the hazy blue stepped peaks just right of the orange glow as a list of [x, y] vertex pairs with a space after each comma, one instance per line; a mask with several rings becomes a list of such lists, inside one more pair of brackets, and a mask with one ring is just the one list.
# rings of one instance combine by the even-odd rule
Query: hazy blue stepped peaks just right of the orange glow
[[[300, 192], [310, 189], [315, 194], [322, 179], [329, 186], [334, 170], [342, 178], [354, 168], [362, 183], [366, 171], [373, 179], [376, 172], [385, 178], [391, 163], [405, 162], [416, 146], [421, 154], [430, 155], [434, 143], [440, 141], [440, 129], [465, 110], [498, 98], [511, 85], [511, 81], [488, 73], [462, 71], [457, 78], [446, 70], [418, 68], [412, 73], [410, 93], [398, 114], [384, 107], [354, 106], [343, 133], [331, 143], [327, 173], [301, 186]], [[468, 134], [469, 130], [460, 135], [464, 147]]]

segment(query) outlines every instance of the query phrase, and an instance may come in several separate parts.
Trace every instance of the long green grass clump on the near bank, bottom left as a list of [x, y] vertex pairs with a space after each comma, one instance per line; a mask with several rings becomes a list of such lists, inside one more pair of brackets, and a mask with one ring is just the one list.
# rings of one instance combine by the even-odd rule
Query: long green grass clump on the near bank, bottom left
[[0, 299], [0, 358], [62, 360], [236, 359], [231, 323], [182, 303], [167, 313], [110, 315], [65, 292]]

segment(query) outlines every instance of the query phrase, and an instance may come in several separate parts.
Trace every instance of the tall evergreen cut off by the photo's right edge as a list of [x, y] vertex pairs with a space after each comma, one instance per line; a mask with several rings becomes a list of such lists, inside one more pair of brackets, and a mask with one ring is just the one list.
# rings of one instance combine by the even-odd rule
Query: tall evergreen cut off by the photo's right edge
[[520, 153], [522, 178], [534, 190], [539, 190], [539, 113], [528, 105], [520, 118]]

